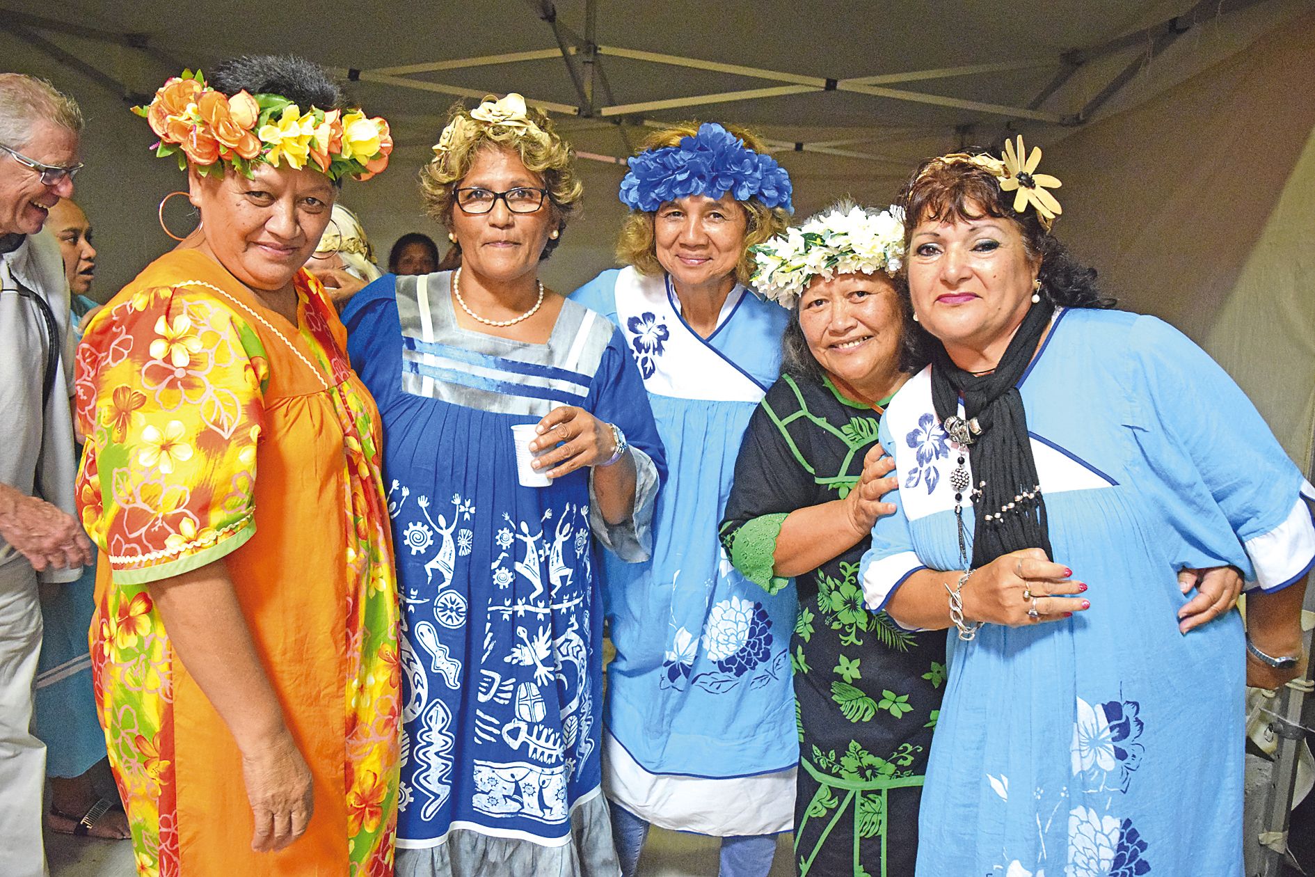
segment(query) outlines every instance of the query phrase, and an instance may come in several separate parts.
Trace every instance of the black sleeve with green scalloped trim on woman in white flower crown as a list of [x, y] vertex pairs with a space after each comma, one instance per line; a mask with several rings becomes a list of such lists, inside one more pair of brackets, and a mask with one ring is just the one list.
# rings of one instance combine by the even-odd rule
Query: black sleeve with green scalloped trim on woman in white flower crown
[[788, 377], [777, 380], [759, 402], [735, 459], [721, 526], [731, 564], [769, 594], [790, 584], [776, 575], [776, 539], [785, 518], [815, 504], [817, 483], [806, 468], [806, 448], [798, 447], [781, 423], [798, 405]]

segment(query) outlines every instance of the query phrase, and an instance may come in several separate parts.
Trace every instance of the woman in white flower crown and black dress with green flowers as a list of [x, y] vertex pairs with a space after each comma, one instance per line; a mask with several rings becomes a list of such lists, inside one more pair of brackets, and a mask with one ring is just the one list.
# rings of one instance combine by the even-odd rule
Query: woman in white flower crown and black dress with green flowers
[[789, 308], [782, 375], [735, 463], [722, 544], [768, 593], [797, 588], [794, 857], [807, 874], [911, 874], [945, 636], [863, 605], [859, 561], [894, 506], [877, 422], [923, 363], [906, 343], [903, 224], [840, 202], [755, 247], [753, 287]]

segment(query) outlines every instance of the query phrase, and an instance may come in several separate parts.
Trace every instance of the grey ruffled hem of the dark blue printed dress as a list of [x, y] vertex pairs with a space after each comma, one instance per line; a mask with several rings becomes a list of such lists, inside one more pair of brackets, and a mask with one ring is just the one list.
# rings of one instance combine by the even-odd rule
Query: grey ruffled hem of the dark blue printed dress
[[396, 877], [618, 877], [608, 801], [601, 794], [571, 814], [571, 836], [559, 845], [497, 838], [459, 828], [437, 847], [397, 848]]

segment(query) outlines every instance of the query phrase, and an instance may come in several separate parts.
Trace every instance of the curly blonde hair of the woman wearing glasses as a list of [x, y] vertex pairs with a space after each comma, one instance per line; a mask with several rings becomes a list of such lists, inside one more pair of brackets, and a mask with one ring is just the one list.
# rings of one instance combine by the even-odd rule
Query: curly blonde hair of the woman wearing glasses
[[[489, 95], [484, 100], [497, 100], [497, 95]], [[556, 229], [560, 233], [567, 227], [584, 193], [584, 184], [575, 171], [575, 150], [562, 139], [548, 114], [542, 109], [530, 107], [526, 116], [546, 134], [544, 139], [508, 125], [481, 122], [471, 117], [471, 110], [462, 101], [452, 104], [447, 112], [444, 129], [458, 120], [462, 122], [458, 124], [447, 150], [435, 153], [434, 159], [419, 171], [421, 197], [425, 201], [425, 213], [430, 218], [451, 231], [456, 184], [471, 172], [471, 166], [481, 150], [505, 149], [514, 151], [527, 171], [543, 178], [543, 188], [548, 191], [548, 204]], [[550, 238], [539, 258], [547, 259], [560, 242], [560, 237]]]

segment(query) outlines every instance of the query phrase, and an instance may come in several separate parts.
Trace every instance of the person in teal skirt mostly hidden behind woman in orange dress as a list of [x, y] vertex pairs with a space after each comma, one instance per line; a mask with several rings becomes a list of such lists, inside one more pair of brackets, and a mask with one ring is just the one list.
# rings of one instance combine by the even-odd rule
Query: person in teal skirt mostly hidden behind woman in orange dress
[[[78, 322], [96, 306], [87, 297], [96, 272], [91, 222], [71, 199], [60, 199], [51, 208], [46, 226], [59, 241], [64, 276], [74, 293], [72, 334], [80, 339]], [[78, 456], [82, 456], [80, 446]], [[118, 795], [103, 798], [92, 784], [92, 768], [105, 757], [105, 734], [96, 721], [87, 647], [96, 606], [95, 585], [96, 565], [89, 563], [78, 581], [49, 592], [43, 589], [45, 632], [37, 664], [36, 731], [46, 744], [46, 776], [50, 778], [46, 827], [66, 835], [122, 840], [129, 836], [128, 817]]]

